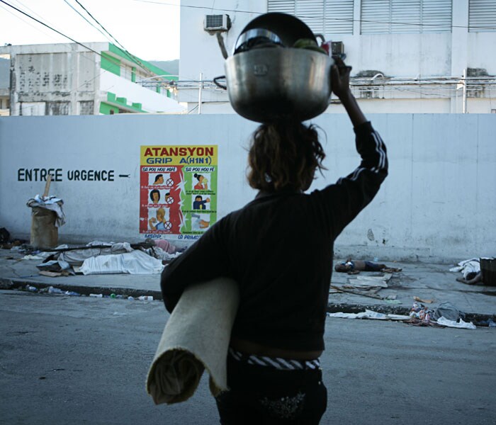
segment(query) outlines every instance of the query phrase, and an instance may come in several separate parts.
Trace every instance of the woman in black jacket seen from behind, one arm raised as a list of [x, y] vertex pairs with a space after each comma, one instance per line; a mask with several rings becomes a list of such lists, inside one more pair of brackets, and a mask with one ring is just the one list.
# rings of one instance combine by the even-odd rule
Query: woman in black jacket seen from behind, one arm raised
[[[260, 125], [248, 157], [256, 198], [215, 223], [162, 273], [169, 312], [191, 283], [225, 276], [239, 284], [230, 390], [216, 399], [221, 424], [318, 424], [327, 408], [319, 357], [334, 239], [388, 173], [381, 137], [349, 89], [350, 70], [336, 59], [331, 81], [354, 125], [359, 166], [306, 194], [325, 157], [315, 128], [291, 120]], [[295, 250], [295, 242], [305, 248]]]

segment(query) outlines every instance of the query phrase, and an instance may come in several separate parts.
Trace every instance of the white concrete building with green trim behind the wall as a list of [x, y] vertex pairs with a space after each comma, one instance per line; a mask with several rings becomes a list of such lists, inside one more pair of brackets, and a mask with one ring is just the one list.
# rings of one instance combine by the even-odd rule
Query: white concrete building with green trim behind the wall
[[10, 115], [185, 110], [167, 88], [177, 77], [108, 42], [4, 46], [0, 55], [10, 59]]

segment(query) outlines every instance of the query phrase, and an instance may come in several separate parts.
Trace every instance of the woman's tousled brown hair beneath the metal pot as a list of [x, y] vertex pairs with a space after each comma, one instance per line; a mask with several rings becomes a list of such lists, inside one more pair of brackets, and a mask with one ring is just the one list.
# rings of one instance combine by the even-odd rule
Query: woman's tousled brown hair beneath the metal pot
[[249, 147], [249, 186], [264, 192], [305, 191], [315, 170], [325, 169], [324, 158], [314, 125], [290, 120], [262, 124]]

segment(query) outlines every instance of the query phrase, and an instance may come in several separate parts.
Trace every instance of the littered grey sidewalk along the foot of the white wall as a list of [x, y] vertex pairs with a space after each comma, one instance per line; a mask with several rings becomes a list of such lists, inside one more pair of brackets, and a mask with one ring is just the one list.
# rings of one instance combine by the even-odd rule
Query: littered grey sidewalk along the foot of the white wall
[[[0, 288], [15, 289], [32, 285], [38, 290], [53, 286], [89, 295], [90, 293], [125, 295], [138, 297], [152, 295], [154, 300], [161, 300], [160, 276], [158, 274], [129, 275], [77, 275], [50, 278], [40, 276], [36, 265], [40, 260], [23, 260], [24, 254], [18, 251], [0, 249]], [[461, 273], [449, 271], [449, 264], [432, 263], [388, 263], [388, 266], [402, 268], [393, 273], [387, 281], [388, 288], [382, 288], [377, 295], [382, 299], [354, 293], [329, 293], [329, 312], [376, 312], [408, 314], [414, 297], [422, 300], [433, 300], [425, 304], [434, 310], [442, 302], [451, 302], [468, 318], [485, 320], [496, 317], [496, 286], [466, 285], [456, 281]], [[378, 276], [383, 273], [361, 272], [349, 276], [346, 273], [333, 272], [332, 285], [338, 288], [346, 285], [349, 279], [356, 276]], [[281, 295], [283, 296], [283, 295]], [[395, 300], [386, 300], [386, 297]]]

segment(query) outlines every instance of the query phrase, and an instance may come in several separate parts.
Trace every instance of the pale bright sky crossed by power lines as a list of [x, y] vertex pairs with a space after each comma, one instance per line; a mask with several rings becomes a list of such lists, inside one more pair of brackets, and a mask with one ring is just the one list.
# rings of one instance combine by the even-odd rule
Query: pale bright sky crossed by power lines
[[[0, 0], [0, 46], [72, 42], [3, 1], [83, 44], [117, 44], [71, 8], [101, 29], [76, 0]], [[78, 1], [133, 55], [143, 60], [179, 59], [179, 0]]]

